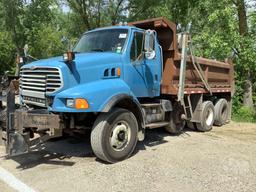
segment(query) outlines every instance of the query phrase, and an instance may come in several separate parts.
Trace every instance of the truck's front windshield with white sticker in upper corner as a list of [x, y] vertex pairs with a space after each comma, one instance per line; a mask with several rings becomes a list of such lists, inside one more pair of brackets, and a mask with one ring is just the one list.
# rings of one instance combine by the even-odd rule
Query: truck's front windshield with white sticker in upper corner
[[74, 52], [121, 53], [127, 38], [127, 29], [104, 29], [86, 33], [79, 40]]

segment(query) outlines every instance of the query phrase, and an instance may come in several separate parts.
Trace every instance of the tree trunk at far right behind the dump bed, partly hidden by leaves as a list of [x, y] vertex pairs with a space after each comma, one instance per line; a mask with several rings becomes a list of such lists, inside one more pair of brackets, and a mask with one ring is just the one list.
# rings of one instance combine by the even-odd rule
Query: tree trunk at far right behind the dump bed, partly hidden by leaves
[[[246, 17], [245, 1], [237, 0], [236, 6], [237, 6], [237, 13], [238, 13], [238, 21], [239, 21], [239, 33], [241, 37], [246, 37], [248, 33], [248, 24], [247, 24], [247, 17]], [[243, 42], [241, 43], [241, 48], [243, 49]], [[252, 108], [253, 107], [252, 74], [250, 70], [246, 71], [245, 76], [246, 76], [246, 80], [244, 84], [243, 104], [246, 107]]]

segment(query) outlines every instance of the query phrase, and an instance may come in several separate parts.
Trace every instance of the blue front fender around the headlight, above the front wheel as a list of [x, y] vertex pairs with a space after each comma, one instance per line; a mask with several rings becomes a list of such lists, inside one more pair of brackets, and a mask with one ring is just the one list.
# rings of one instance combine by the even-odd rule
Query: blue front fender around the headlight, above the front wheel
[[[78, 85], [58, 93], [50, 111], [54, 112], [104, 112], [109, 100], [116, 95], [133, 96], [129, 86], [122, 79], [103, 79]], [[66, 107], [66, 99], [84, 98], [89, 109], [77, 110]]]

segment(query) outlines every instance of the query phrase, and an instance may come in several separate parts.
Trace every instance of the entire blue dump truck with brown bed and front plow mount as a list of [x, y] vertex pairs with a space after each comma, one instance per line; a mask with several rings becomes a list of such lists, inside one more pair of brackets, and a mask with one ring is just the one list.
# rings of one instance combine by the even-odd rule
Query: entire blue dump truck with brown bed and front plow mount
[[[1, 110], [8, 155], [64, 133], [91, 134], [94, 154], [114, 163], [131, 156], [146, 129], [210, 131], [231, 114], [230, 60], [195, 57], [188, 32], [166, 18], [84, 33], [72, 51], [23, 65], [20, 105], [8, 88]], [[5, 118], [3, 118], [5, 117]]]

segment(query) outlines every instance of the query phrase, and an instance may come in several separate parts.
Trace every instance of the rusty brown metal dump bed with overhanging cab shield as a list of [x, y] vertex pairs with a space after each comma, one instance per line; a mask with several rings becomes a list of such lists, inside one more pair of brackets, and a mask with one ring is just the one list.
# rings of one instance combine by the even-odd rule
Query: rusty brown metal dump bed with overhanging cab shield
[[[164, 17], [131, 22], [129, 25], [157, 32], [158, 40], [163, 49], [163, 78], [161, 93], [178, 94], [181, 53], [178, 48], [176, 24]], [[225, 62], [195, 57], [200, 63], [204, 78], [212, 93], [232, 93], [234, 89], [234, 69], [231, 60]], [[191, 56], [187, 58], [185, 94], [209, 93], [195, 70]]]

